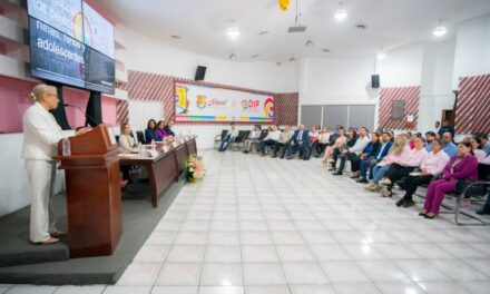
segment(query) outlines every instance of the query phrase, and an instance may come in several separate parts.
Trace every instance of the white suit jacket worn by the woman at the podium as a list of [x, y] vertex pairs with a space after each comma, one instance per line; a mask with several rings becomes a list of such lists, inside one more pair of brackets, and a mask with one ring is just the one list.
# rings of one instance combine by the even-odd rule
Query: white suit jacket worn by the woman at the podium
[[55, 117], [36, 102], [22, 118], [24, 159], [52, 160], [57, 154], [57, 143], [65, 138]]

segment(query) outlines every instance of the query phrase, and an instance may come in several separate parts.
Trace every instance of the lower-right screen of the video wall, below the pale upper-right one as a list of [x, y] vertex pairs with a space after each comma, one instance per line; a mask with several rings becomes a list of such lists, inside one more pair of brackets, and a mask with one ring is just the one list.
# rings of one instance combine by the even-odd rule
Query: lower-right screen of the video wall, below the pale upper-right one
[[85, 87], [89, 90], [114, 94], [114, 59], [86, 47], [85, 50]]

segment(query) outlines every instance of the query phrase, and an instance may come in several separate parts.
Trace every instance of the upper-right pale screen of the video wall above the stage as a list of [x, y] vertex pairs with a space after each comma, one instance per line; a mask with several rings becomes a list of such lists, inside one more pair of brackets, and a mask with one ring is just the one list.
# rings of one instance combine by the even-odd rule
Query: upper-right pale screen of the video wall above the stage
[[115, 59], [114, 26], [84, 2], [84, 42]]

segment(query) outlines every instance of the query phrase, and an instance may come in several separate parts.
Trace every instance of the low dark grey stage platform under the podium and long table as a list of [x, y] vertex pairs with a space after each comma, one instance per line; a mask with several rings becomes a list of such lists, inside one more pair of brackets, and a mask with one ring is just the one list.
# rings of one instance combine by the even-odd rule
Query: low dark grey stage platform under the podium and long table
[[[29, 242], [29, 209], [24, 207], [0, 218], [0, 284], [88, 285], [114, 284], [138, 253], [159, 219], [185, 185], [173, 183], [159, 195], [158, 207], [150, 203], [148, 183], [137, 183], [137, 195], [122, 195], [122, 235], [111, 256], [68, 257], [67, 239], [53, 245]], [[66, 231], [66, 198], [57, 195], [59, 227]]]

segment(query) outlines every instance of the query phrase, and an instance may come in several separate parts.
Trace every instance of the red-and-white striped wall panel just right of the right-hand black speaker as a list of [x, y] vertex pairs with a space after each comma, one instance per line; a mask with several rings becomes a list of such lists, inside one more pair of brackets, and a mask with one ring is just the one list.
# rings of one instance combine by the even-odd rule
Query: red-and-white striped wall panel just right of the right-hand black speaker
[[[403, 100], [403, 119], [392, 119], [392, 101]], [[416, 129], [419, 120], [420, 86], [381, 88], [378, 125], [385, 129]], [[413, 116], [412, 127], [406, 126], [406, 116]]]

